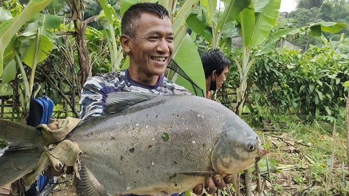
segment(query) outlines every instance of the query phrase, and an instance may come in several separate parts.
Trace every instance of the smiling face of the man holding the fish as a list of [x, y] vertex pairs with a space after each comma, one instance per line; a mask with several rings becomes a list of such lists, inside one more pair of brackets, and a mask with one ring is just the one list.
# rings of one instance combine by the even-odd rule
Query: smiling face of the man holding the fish
[[142, 13], [135, 38], [130, 41], [130, 68], [147, 77], [165, 72], [173, 52], [173, 31], [167, 16]]

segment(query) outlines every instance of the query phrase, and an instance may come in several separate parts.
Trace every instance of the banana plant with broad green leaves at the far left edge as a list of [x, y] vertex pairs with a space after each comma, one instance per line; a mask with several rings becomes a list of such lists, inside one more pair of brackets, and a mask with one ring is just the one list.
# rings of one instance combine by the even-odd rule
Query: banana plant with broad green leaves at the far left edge
[[[44, 28], [56, 25], [56, 20], [53, 20], [55, 17], [38, 15], [51, 2], [52, 0], [32, 0], [18, 16], [8, 18], [0, 24], [0, 43], [2, 43], [0, 45], [0, 76], [3, 75], [3, 83], [9, 82], [14, 78], [17, 68], [19, 68], [24, 84], [24, 92], [20, 97], [24, 115], [27, 114], [32, 95], [36, 65], [47, 58], [53, 47], [52, 39], [50, 40], [45, 35], [48, 32]], [[2, 11], [4, 12], [4, 9]], [[10, 15], [7, 13], [7, 16]], [[23, 24], [35, 16], [37, 17], [35, 22], [29, 24], [22, 34], [17, 35]], [[22, 62], [32, 68], [29, 80]]]

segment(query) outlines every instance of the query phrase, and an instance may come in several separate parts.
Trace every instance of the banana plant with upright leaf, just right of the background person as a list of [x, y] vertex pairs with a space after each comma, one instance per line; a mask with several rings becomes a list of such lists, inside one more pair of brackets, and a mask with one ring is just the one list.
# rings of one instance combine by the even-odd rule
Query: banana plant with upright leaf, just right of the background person
[[242, 39], [242, 60], [234, 58], [240, 75], [240, 84], [237, 89], [237, 110], [241, 116], [246, 100], [248, 72], [256, 56], [250, 58], [251, 50], [262, 44], [270, 35], [280, 9], [281, 0], [256, 0], [238, 14], [237, 22]]

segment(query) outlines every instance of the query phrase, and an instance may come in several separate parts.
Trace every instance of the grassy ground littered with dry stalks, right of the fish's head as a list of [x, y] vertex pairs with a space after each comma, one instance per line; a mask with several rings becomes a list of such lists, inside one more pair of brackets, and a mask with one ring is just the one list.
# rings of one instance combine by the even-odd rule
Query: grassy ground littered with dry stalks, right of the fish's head
[[349, 194], [344, 122], [337, 122], [333, 171], [328, 183], [332, 130], [331, 123], [314, 122], [293, 123], [282, 132], [260, 132], [259, 135], [265, 137], [265, 148], [270, 150], [268, 157], [277, 162], [274, 166], [279, 169], [279, 172], [271, 172], [268, 178], [271, 186], [267, 188], [267, 195]]

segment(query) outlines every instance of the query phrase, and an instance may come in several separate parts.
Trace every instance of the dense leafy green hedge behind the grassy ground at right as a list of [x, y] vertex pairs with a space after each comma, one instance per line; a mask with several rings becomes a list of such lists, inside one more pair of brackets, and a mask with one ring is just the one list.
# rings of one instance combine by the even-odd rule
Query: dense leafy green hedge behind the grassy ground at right
[[[280, 113], [293, 115], [296, 122], [300, 119], [334, 122], [344, 116], [340, 108], [344, 106], [343, 94], [348, 93], [344, 85], [349, 80], [348, 41], [311, 46], [303, 53], [278, 49], [257, 58], [248, 75], [247, 108], [243, 111], [253, 119], [250, 123], [260, 126], [265, 119], [272, 123], [289, 122], [281, 119]], [[238, 69], [231, 66], [218, 100], [233, 110], [237, 107], [238, 84]]]

